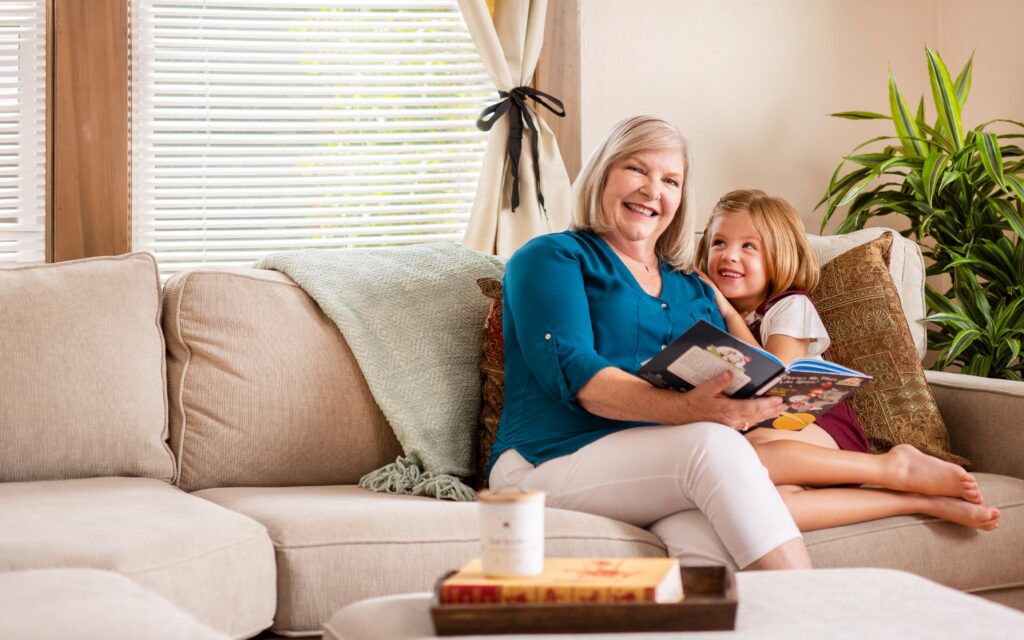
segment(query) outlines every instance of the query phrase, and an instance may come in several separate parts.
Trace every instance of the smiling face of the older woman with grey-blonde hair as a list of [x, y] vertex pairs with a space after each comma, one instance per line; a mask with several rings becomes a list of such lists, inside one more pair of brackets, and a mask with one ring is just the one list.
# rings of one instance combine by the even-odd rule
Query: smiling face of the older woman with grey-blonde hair
[[601, 194], [612, 245], [641, 245], [653, 252], [683, 198], [683, 156], [679, 150], [638, 152], [613, 163]]

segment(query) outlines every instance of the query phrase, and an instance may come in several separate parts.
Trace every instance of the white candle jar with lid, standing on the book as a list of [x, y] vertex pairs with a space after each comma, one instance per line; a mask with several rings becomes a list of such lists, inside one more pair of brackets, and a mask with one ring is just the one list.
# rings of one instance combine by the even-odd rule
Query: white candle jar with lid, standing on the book
[[480, 492], [480, 560], [490, 578], [544, 570], [544, 492]]

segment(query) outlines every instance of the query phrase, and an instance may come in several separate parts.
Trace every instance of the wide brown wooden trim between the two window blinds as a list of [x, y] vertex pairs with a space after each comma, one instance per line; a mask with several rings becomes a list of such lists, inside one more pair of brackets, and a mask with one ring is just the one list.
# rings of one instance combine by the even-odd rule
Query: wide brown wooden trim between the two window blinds
[[129, 251], [128, 0], [53, 0], [54, 261]]

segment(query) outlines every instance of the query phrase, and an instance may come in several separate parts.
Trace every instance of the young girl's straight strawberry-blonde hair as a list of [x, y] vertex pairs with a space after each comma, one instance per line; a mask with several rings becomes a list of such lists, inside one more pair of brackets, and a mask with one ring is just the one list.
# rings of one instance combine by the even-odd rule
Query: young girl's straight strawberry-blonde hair
[[756, 188], [729, 191], [715, 205], [697, 244], [696, 263], [701, 271], [708, 270], [711, 227], [715, 220], [727, 213], [750, 214], [754, 229], [761, 237], [768, 295], [787, 289], [809, 293], [818, 286], [818, 260], [807, 243], [807, 231], [800, 214], [781, 198], [773, 198]]

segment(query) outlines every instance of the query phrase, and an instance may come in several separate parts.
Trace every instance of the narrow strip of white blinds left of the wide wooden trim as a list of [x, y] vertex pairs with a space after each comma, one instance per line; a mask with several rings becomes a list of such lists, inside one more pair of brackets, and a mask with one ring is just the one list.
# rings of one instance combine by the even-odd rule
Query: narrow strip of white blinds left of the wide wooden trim
[[0, 1], [0, 263], [46, 259], [46, 4]]

